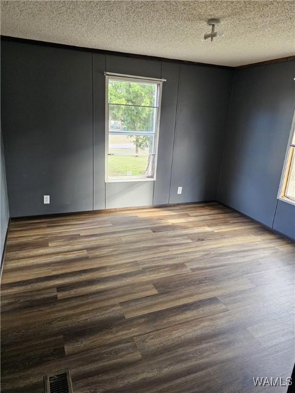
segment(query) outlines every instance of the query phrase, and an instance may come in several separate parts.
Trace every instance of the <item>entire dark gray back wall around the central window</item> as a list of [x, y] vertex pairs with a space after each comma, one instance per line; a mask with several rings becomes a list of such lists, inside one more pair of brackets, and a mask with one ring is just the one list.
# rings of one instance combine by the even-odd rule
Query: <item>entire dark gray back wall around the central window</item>
[[[233, 70], [7, 40], [1, 49], [12, 217], [216, 198]], [[104, 182], [104, 71], [167, 79], [155, 182]]]

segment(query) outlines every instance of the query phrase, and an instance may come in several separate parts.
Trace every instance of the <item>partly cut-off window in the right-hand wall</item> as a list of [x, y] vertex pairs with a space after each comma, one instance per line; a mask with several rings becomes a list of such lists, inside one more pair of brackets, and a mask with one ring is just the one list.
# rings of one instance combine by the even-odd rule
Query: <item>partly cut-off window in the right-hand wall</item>
[[[295, 120], [295, 116], [294, 116]], [[292, 132], [290, 137], [290, 143], [287, 151], [287, 160], [284, 167], [282, 184], [280, 187], [279, 198], [284, 201], [295, 204], [295, 132], [294, 132], [294, 120], [292, 126]]]

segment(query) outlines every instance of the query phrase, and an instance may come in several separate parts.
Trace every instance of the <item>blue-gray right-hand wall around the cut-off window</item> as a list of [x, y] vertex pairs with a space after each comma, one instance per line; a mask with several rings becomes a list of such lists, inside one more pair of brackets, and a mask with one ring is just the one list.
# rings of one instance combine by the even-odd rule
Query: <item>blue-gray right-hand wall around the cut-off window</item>
[[294, 61], [235, 71], [218, 200], [294, 238], [277, 200], [294, 113]]

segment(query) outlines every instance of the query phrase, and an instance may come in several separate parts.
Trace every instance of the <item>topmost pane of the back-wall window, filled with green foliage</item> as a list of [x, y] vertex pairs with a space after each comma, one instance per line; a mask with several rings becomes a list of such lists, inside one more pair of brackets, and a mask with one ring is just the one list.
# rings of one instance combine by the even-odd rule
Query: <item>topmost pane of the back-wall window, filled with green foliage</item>
[[109, 80], [109, 103], [157, 106], [157, 83]]

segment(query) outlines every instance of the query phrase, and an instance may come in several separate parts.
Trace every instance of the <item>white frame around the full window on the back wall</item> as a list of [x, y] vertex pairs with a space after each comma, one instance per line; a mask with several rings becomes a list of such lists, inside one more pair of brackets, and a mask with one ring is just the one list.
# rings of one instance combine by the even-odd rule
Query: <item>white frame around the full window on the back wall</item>
[[[105, 181], [106, 183], [114, 183], [114, 182], [142, 182], [142, 181], [155, 181], [156, 173], [157, 173], [157, 161], [158, 161], [158, 142], [159, 142], [159, 128], [160, 128], [160, 115], [161, 115], [161, 101], [162, 101], [162, 82], [165, 79], [156, 79], [156, 78], [147, 78], [147, 77], [139, 77], [133, 75], [124, 75], [124, 74], [113, 74], [113, 73], [104, 73], [106, 76], [106, 122], [105, 122], [105, 132], [106, 132], [106, 143], [105, 143]], [[152, 176], [124, 176], [118, 178], [108, 178], [108, 155], [109, 155], [109, 80], [123, 80], [123, 81], [133, 81], [133, 82], [141, 82], [141, 83], [151, 83], [157, 84], [157, 106], [155, 108], [156, 111], [156, 134], [155, 134], [155, 156], [154, 160], [154, 170]], [[152, 106], [151, 106], [152, 107]]]

